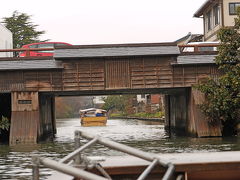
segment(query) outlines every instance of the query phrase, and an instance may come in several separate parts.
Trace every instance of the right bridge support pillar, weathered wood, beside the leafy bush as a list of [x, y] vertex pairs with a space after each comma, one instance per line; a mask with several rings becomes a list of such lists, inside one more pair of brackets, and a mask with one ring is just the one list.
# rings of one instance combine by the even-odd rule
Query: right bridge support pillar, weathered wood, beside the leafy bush
[[200, 110], [204, 95], [193, 88], [165, 95], [165, 129], [170, 135], [222, 136], [221, 123], [209, 123]]

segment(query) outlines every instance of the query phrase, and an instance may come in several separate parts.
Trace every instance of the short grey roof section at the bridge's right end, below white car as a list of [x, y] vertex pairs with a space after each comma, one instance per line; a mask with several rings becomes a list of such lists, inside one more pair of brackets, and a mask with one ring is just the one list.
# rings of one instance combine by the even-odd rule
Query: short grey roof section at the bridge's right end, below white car
[[215, 64], [214, 58], [216, 55], [180, 55], [177, 57], [177, 62], [173, 65], [178, 64]]

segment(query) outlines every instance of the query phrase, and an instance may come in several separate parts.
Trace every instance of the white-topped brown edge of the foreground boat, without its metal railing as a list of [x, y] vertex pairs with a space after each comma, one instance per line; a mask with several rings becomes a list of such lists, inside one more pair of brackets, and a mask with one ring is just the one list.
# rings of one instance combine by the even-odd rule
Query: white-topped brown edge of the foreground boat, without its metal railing
[[[165, 162], [171, 162], [175, 165], [175, 178], [180, 173], [185, 174], [185, 177], [189, 180], [237, 180], [240, 179], [239, 153], [239, 151], [173, 153], [158, 154], [157, 156]], [[120, 177], [132, 178], [133, 175], [138, 177], [150, 162], [132, 156], [115, 156], [102, 158], [100, 164], [111, 177], [118, 179]], [[96, 170], [89, 171], [98, 173]], [[148, 179], [159, 179], [165, 172], [166, 168], [156, 166], [151, 171]]]

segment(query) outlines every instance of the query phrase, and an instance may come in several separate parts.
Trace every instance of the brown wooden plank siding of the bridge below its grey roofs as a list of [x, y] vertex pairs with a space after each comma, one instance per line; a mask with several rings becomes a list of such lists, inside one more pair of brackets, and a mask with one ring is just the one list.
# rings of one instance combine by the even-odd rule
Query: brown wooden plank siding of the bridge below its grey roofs
[[[63, 70], [27, 70], [19, 72], [0, 72], [0, 91], [56, 91], [66, 90], [64, 86], [73, 83], [105, 83], [106, 88], [129, 89], [135, 84], [153, 85], [157, 88], [189, 87], [197, 82], [198, 77], [209, 75], [217, 79], [218, 71], [212, 65], [171, 66], [176, 57], [109, 57], [84, 58], [63, 61]], [[127, 63], [126, 63], [127, 62]], [[112, 63], [109, 70], [107, 64]], [[124, 65], [125, 63], [125, 65]], [[126, 65], [127, 64], [127, 65]], [[127, 66], [127, 67], [126, 67]], [[108, 71], [108, 72], [107, 72]], [[111, 80], [111, 82], [109, 81]], [[110, 82], [110, 83], [109, 83]], [[66, 90], [67, 91], [67, 90]]]

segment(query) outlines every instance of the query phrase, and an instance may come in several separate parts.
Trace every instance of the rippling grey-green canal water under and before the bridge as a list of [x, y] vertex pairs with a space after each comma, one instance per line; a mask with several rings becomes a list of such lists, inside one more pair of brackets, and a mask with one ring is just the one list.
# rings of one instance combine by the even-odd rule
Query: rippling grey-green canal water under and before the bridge
[[[74, 131], [88, 133], [152, 153], [214, 152], [240, 150], [240, 138], [186, 138], [168, 137], [164, 126], [156, 122], [138, 120], [108, 120], [106, 127], [81, 127], [79, 119], [58, 119], [57, 134], [52, 142], [36, 145], [7, 146], [0, 144], [0, 180], [31, 179], [31, 157], [39, 155], [58, 160], [74, 149]], [[82, 140], [82, 143], [87, 142]], [[85, 151], [91, 156], [118, 156], [120, 152], [102, 145], [95, 145]], [[40, 170], [41, 179], [46, 179], [52, 171]]]

